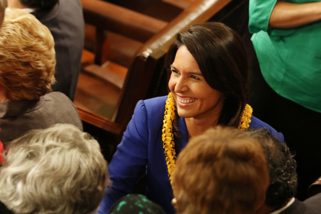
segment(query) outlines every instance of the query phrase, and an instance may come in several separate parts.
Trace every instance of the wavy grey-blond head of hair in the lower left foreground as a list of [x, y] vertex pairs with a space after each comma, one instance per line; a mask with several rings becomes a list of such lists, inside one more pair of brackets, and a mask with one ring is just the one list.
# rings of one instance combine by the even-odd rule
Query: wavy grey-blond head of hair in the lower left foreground
[[11, 142], [0, 168], [0, 200], [15, 213], [89, 213], [108, 181], [98, 142], [56, 124]]

